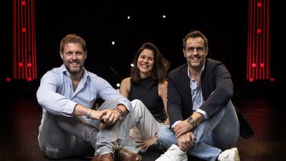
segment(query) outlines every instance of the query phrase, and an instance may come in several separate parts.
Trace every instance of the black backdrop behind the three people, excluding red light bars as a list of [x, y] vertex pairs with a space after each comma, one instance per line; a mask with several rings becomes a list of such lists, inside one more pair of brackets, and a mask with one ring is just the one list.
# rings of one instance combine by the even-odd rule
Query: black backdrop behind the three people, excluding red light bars
[[[185, 62], [184, 35], [201, 30], [209, 39], [209, 57], [227, 66], [235, 87], [280, 89], [285, 73], [286, 13], [282, 3], [270, 1], [270, 74], [275, 82], [249, 83], [248, 1], [35, 1], [38, 78], [61, 66], [59, 41], [69, 33], [86, 40], [86, 69], [115, 87], [129, 76], [133, 56], [145, 41], [158, 46], [173, 69]], [[6, 77], [12, 77], [12, 1], [1, 1], [0, 15], [1, 85]], [[111, 45], [113, 40], [115, 46]]]

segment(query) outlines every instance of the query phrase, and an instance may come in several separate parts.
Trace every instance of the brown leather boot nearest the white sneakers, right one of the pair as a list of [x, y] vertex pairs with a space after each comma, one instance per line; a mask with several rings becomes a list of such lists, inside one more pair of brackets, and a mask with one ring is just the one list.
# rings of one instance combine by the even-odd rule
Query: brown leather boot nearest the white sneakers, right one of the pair
[[140, 161], [142, 160], [142, 156], [128, 151], [127, 149], [117, 149], [117, 157], [119, 161]]

